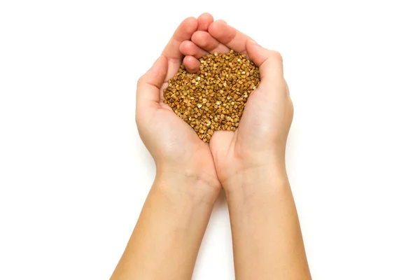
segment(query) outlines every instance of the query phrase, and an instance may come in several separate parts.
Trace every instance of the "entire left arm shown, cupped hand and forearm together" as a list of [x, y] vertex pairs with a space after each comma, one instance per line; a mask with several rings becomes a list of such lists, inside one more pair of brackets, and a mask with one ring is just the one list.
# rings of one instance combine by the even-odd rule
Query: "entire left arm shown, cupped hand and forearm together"
[[163, 89], [181, 65], [195, 18], [176, 29], [139, 79], [136, 120], [156, 164], [156, 178], [111, 279], [191, 279], [211, 209], [221, 190], [209, 144], [163, 104]]

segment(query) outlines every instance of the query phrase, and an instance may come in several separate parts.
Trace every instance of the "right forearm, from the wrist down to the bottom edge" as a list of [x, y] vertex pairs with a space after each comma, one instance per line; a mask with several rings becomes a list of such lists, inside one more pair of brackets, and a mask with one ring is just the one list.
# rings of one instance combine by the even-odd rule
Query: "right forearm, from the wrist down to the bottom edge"
[[248, 170], [229, 183], [237, 279], [311, 279], [285, 169]]

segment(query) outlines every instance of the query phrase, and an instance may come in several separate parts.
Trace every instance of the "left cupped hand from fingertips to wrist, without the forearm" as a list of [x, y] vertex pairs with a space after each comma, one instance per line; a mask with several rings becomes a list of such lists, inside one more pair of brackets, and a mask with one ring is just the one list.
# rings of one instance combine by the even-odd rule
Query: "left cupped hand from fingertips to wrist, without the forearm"
[[[197, 137], [194, 130], [172, 109], [163, 104], [163, 90], [175, 76], [183, 55], [180, 45], [190, 40], [197, 30], [195, 18], [187, 18], [176, 29], [162, 55], [139, 79], [137, 84], [136, 121], [140, 137], [153, 156], [157, 176], [185, 176], [206, 183], [205, 191], [218, 194], [221, 188], [216, 175], [209, 145]], [[195, 190], [181, 190], [195, 192]]]

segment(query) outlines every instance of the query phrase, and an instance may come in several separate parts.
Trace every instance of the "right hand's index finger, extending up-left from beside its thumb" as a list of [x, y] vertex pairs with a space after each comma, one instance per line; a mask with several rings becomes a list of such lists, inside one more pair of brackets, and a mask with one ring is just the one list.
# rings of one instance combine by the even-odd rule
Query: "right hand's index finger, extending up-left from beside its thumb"
[[237, 31], [237, 29], [221, 20], [216, 20], [209, 26], [209, 34], [223, 45], [235, 50], [235, 52], [244, 52], [246, 50], [246, 41], [251, 39], [251, 37]]

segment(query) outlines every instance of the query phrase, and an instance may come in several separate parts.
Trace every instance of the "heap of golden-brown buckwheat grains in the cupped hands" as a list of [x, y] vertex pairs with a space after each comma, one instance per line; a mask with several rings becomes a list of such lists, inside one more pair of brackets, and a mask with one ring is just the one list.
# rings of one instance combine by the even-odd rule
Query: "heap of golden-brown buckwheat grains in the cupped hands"
[[246, 100], [260, 84], [258, 66], [230, 50], [200, 59], [200, 71], [181, 66], [164, 90], [164, 103], [208, 142], [216, 130], [235, 131]]

